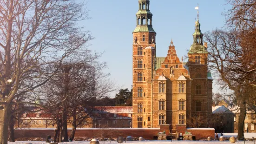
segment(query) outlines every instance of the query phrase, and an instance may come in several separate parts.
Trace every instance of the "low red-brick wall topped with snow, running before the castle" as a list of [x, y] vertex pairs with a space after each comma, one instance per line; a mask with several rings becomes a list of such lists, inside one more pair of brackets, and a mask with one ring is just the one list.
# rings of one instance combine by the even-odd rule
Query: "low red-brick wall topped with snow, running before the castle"
[[[158, 132], [167, 131], [166, 134], [169, 134], [169, 127], [164, 126], [161, 128], [115, 128], [115, 129], [100, 129], [100, 128], [84, 128], [76, 130], [76, 137], [144, 137], [146, 139], [152, 140], [153, 136], [157, 136]], [[196, 139], [202, 139], [207, 137], [214, 137], [214, 129], [187, 129], [191, 132]], [[71, 130], [68, 130], [68, 135]], [[184, 134], [184, 133], [183, 133]], [[15, 130], [15, 138], [19, 137], [43, 137], [47, 135], [54, 136], [54, 129], [24, 129], [24, 130]]]

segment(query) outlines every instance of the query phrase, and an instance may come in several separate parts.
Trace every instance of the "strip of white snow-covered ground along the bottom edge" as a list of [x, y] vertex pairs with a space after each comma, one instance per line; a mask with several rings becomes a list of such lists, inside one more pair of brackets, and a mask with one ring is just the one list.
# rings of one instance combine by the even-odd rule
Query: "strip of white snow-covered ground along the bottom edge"
[[[8, 143], [8, 144], [45, 144], [45, 142], [28, 142], [28, 141], [20, 141], [16, 143]], [[59, 144], [90, 144], [89, 141], [77, 141], [77, 142], [66, 142]], [[99, 144], [103, 144], [103, 141], [100, 141]], [[105, 144], [118, 144], [116, 141], [112, 141], [111, 143], [105, 142]], [[125, 142], [123, 143], [125, 144]], [[230, 141], [220, 142], [220, 141], [133, 141], [126, 142], [126, 144], [230, 144]], [[238, 141], [236, 144], [244, 144], [243, 141]], [[250, 141], [245, 141], [245, 144], [254, 144]]]

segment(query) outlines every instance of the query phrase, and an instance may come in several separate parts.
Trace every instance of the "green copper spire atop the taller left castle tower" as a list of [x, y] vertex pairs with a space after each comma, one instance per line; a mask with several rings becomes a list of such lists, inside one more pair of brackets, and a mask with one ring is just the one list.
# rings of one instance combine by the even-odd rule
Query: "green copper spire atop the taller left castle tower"
[[149, 0], [138, 0], [138, 12], [136, 13], [137, 17], [137, 26], [133, 33], [137, 32], [152, 32], [155, 33], [152, 27], [152, 16], [153, 14], [149, 9], [150, 1]]

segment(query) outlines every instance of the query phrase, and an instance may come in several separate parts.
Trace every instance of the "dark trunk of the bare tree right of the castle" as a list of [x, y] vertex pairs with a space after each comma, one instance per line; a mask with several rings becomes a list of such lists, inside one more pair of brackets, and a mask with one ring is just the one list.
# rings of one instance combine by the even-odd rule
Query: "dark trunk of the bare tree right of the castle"
[[239, 104], [239, 110], [240, 110], [240, 115], [238, 117], [238, 128], [237, 128], [237, 138], [240, 139], [242, 137], [244, 137], [243, 135], [243, 129], [244, 129], [244, 119], [245, 119], [245, 115], [246, 115], [246, 103], [245, 100], [243, 100], [243, 98], [238, 100], [238, 104]]

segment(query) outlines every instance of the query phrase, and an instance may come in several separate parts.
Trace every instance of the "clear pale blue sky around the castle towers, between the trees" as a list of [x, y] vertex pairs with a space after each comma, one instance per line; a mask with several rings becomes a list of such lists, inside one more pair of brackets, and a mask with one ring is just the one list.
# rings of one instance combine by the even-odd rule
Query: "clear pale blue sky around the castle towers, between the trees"
[[[79, 25], [90, 30], [95, 38], [90, 41], [92, 51], [105, 52], [99, 59], [106, 61], [111, 80], [121, 88], [132, 85], [132, 31], [136, 27], [138, 0], [88, 0], [90, 20], [80, 21]], [[157, 56], [166, 56], [173, 39], [177, 55], [187, 55], [193, 42], [195, 18], [199, 3], [201, 31], [211, 31], [224, 26], [221, 15], [225, 0], [150, 0], [153, 14], [152, 25], [157, 33]], [[214, 92], [217, 92], [214, 86]], [[114, 93], [110, 95], [114, 96]]]

